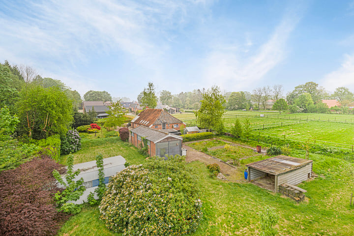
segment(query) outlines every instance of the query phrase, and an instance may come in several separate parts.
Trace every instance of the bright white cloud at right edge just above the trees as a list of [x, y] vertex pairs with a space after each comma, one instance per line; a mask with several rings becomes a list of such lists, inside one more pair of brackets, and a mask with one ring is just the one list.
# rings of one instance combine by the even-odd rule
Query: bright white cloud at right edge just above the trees
[[324, 76], [324, 88], [334, 91], [338, 87], [347, 87], [354, 90], [354, 54], [345, 55], [341, 67]]

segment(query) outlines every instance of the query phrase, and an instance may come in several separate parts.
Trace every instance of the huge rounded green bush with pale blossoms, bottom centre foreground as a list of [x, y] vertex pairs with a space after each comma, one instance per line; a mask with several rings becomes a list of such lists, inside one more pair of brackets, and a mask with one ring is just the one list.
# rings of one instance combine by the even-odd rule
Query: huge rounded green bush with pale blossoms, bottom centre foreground
[[110, 180], [100, 204], [106, 226], [123, 236], [180, 236], [196, 231], [203, 213], [195, 177], [180, 156], [149, 159]]

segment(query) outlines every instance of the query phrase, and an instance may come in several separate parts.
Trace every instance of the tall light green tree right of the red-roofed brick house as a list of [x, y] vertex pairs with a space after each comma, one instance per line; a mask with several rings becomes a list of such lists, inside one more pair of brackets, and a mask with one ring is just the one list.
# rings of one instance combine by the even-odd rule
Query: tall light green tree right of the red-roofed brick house
[[219, 87], [213, 86], [203, 94], [201, 108], [196, 112], [197, 122], [203, 127], [222, 131], [224, 124], [222, 116], [225, 113], [223, 104], [225, 98]]

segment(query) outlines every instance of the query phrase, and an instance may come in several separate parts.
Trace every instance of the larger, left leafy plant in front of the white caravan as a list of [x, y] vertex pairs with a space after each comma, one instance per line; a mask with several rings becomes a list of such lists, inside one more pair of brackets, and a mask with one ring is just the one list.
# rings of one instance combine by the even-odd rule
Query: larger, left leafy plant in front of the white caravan
[[80, 170], [73, 171], [74, 156], [70, 154], [67, 157], [67, 172], [65, 174], [65, 180], [60, 176], [57, 170], [53, 171], [53, 176], [57, 181], [65, 188], [62, 192], [57, 192], [54, 199], [57, 203], [59, 211], [64, 211], [70, 214], [77, 214], [81, 211], [80, 205], [74, 203], [68, 203], [68, 201], [77, 201], [80, 196], [83, 195], [85, 187], [82, 185], [83, 178], [75, 181], [75, 177], [80, 174]]

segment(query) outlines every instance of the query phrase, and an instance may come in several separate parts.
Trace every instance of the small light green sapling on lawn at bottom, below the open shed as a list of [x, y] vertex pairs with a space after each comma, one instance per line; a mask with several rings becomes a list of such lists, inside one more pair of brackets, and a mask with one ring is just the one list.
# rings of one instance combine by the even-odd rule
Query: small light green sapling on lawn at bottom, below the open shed
[[277, 229], [274, 229], [279, 221], [279, 215], [272, 207], [266, 207], [264, 211], [260, 213], [261, 216], [261, 236], [276, 236], [278, 234]]

